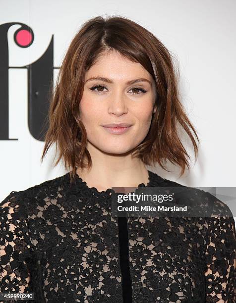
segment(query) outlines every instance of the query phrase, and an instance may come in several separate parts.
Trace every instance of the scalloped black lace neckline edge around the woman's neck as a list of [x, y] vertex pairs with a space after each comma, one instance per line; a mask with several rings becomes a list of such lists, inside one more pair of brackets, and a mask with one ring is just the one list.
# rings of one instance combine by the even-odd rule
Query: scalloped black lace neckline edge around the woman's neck
[[[142, 188], [142, 187], [152, 187], [152, 186], [155, 186], [155, 173], [153, 173], [152, 171], [150, 170], [147, 170], [148, 171], [148, 183], [147, 185], [145, 185], [144, 183], [140, 183], [137, 188]], [[69, 172], [67, 173], [67, 175], [69, 176]], [[74, 179], [74, 183], [78, 186], [80, 186], [80, 188], [82, 190], [84, 190], [86, 193], [90, 193], [91, 195], [97, 197], [97, 198], [104, 198], [104, 199], [107, 199], [107, 198], [111, 198], [111, 194], [114, 194], [115, 191], [112, 189], [112, 188], [108, 188], [106, 189], [105, 191], [101, 191], [99, 192], [97, 190], [96, 187], [89, 187], [86, 183], [86, 181], [83, 181], [83, 179], [77, 174], [75, 173], [75, 179]]]

